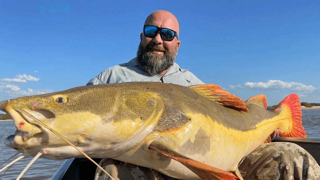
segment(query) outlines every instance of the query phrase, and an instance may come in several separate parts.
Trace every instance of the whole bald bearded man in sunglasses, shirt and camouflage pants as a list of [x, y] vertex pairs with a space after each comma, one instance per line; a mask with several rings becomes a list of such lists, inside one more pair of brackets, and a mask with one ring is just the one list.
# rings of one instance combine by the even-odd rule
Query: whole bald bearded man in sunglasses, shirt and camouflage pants
[[[131, 81], [157, 81], [181, 86], [204, 84], [174, 62], [180, 47], [179, 22], [170, 12], [151, 13], [140, 34], [137, 57], [113, 66], [92, 78], [87, 85]], [[278, 134], [273, 133], [273, 137]], [[173, 180], [153, 169], [112, 159], [100, 165], [116, 180]], [[239, 164], [244, 179], [320, 179], [320, 167], [313, 157], [293, 143], [266, 143], [246, 156]], [[109, 179], [100, 173], [99, 179]]]

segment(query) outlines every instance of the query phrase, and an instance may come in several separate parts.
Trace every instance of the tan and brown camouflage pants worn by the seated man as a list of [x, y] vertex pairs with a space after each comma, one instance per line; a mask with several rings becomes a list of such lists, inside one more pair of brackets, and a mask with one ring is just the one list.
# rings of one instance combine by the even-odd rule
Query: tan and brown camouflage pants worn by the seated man
[[[153, 169], [112, 159], [102, 159], [100, 165], [116, 180], [176, 180]], [[244, 157], [239, 170], [245, 180], [319, 180], [320, 167], [314, 158], [294, 143], [261, 144]], [[109, 180], [103, 172], [99, 180]]]

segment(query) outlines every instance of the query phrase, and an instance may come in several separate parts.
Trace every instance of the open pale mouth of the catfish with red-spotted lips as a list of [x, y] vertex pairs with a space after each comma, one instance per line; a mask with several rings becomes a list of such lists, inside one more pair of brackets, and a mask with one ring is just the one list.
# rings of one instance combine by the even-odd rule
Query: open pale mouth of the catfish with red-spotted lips
[[46, 132], [44, 126], [39, 121], [55, 119], [55, 115], [44, 109], [31, 110], [29, 108], [15, 108], [11, 105], [12, 101], [6, 100], [0, 102], [0, 110], [8, 113], [17, 128], [14, 135], [10, 135], [5, 140], [5, 144], [14, 149], [20, 149], [28, 145], [28, 141], [32, 138], [41, 140]]

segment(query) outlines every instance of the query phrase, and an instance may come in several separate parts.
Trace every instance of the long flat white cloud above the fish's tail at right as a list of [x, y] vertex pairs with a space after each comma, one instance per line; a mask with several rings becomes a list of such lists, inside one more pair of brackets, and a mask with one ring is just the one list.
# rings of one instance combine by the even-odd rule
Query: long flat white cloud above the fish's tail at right
[[290, 89], [296, 91], [312, 92], [317, 88], [297, 82], [284, 82], [281, 80], [268, 80], [267, 82], [246, 82], [243, 85], [229, 86], [230, 89], [249, 87], [252, 89]]

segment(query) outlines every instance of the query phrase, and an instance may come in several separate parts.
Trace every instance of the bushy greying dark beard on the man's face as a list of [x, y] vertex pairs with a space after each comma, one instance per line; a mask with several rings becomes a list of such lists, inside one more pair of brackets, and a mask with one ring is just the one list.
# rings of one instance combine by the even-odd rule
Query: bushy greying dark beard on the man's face
[[[155, 45], [154, 47], [156, 47]], [[157, 48], [157, 49], [160, 49]], [[163, 48], [161, 48], [163, 49]], [[141, 41], [137, 51], [137, 58], [140, 68], [146, 70], [151, 76], [160, 74], [161, 72], [169, 69], [173, 63], [177, 54], [177, 49], [173, 51], [164, 51], [163, 55], [154, 54], [148, 52], [148, 47], [143, 48]]]

